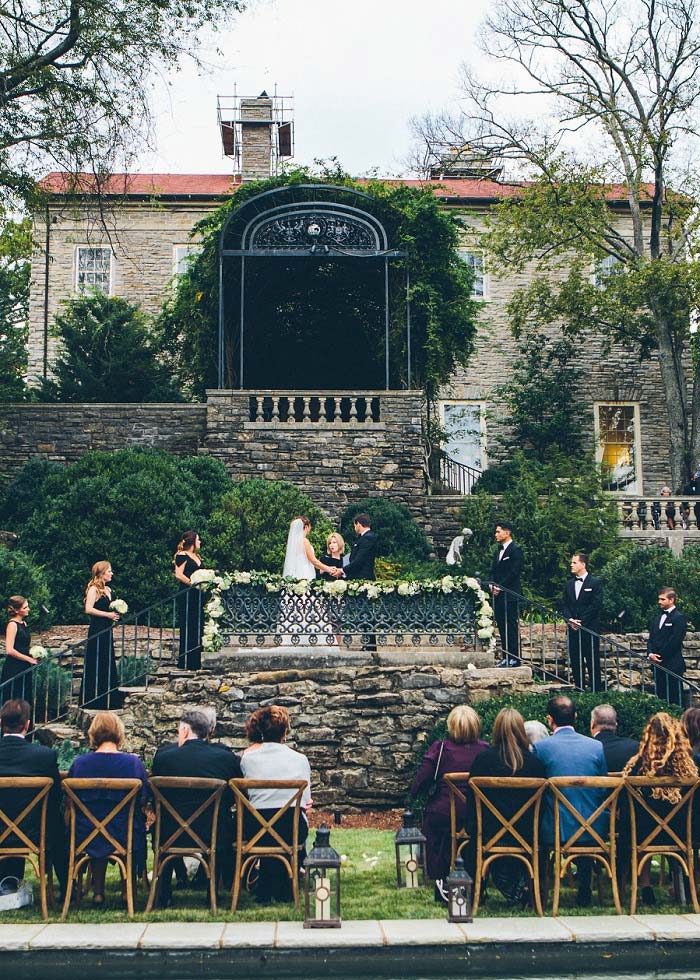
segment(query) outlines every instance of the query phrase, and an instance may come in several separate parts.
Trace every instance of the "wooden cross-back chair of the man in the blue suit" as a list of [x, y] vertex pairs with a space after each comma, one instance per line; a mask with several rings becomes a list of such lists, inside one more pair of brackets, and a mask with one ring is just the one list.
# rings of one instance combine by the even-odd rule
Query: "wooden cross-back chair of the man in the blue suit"
[[[554, 893], [552, 896], [552, 915], [559, 912], [561, 881], [571, 864], [577, 859], [590, 858], [605, 868], [610, 876], [613, 902], [618, 915], [622, 915], [620, 894], [617, 884], [617, 808], [624, 783], [619, 776], [551, 776], [549, 788], [554, 807]], [[600, 790], [600, 801], [596, 808], [585, 815], [566, 795], [567, 789]], [[575, 830], [562, 840], [562, 808], [575, 822]], [[607, 819], [606, 819], [607, 815]], [[606, 822], [606, 829], [599, 830], [595, 824]], [[609, 821], [609, 823], [608, 823]]]

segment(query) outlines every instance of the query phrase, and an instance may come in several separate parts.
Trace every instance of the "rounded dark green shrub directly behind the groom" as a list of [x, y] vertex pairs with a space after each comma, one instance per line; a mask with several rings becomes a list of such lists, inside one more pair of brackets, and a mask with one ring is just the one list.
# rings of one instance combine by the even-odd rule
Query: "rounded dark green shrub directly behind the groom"
[[430, 542], [425, 532], [411, 516], [408, 507], [385, 500], [368, 497], [351, 504], [340, 519], [340, 533], [348, 546], [355, 540], [353, 521], [358, 514], [369, 514], [372, 530], [377, 535], [377, 556], [406, 565], [424, 562], [430, 555]]

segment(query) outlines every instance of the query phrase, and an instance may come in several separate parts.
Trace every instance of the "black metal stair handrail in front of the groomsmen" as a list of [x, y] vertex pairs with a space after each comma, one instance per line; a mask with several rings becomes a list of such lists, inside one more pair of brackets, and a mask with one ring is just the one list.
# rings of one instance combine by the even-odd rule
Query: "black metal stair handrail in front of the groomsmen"
[[[506, 637], [510, 653], [501, 650], [506, 658], [513, 657], [520, 664], [532, 668], [543, 678], [559, 681], [574, 687], [576, 690], [591, 690], [590, 683], [580, 682], [576, 676], [575, 665], [569, 650], [568, 630], [562, 615], [555, 609], [528, 599], [510, 589], [499, 586], [503, 593], [506, 606], [514, 603], [517, 611], [518, 636]], [[535, 616], [532, 615], [533, 611]], [[506, 626], [508, 617], [506, 616]], [[513, 622], [513, 616], [510, 618]], [[659, 687], [665, 691], [662, 696], [674, 704], [684, 705], [688, 700], [700, 703], [700, 686], [686, 677], [674, 673], [667, 667], [653, 664], [643, 652], [619, 640], [593, 630], [579, 627], [578, 632], [584, 638], [578, 645], [580, 655], [581, 645], [590, 644], [592, 651], [597, 649], [600, 658], [600, 674], [602, 679], [601, 691], [635, 690], [653, 692]], [[510, 641], [510, 642], [509, 642]], [[516, 648], [518, 653], [514, 653]], [[574, 650], [574, 655], [577, 651]], [[579, 664], [581, 677], [587, 671]], [[660, 683], [657, 685], [657, 678]], [[685, 692], [685, 693], [684, 693]]]

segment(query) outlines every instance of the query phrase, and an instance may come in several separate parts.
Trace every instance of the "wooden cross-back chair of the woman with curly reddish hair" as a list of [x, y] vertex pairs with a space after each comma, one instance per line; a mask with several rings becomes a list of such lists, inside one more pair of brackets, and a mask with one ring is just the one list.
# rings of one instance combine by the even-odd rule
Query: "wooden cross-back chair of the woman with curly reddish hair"
[[[698, 906], [695, 882], [695, 848], [693, 846], [693, 806], [695, 793], [700, 781], [697, 779], [675, 779], [672, 777], [627, 776], [625, 786], [630, 810], [630, 831], [632, 847], [632, 881], [630, 888], [630, 915], [637, 909], [637, 886], [639, 876], [654, 857], [665, 858], [676, 863], [688, 879], [690, 900], [694, 911]], [[670, 804], [665, 814], [654, 810], [651, 791], [656, 788], [677, 789], [680, 793], [678, 803]], [[645, 796], [644, 790], [649, 791]], [[650, 826], [644, 832], [640, 827], [640, 817], [649, 820]], [[680, 824], [678, 829], [673, 823]]]

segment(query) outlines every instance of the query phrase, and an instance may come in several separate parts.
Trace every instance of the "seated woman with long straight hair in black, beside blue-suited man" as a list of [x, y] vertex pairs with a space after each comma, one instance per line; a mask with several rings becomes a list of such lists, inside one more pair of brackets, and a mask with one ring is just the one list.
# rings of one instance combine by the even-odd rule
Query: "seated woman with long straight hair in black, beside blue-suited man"
[[[470, 777], [474, 776], [512, 776], [518, 779], [543, 779], [544, 766], [530, 751], [530, 743], [525, 734], [525, 724], [520, 712], [515, 708], [502, 708], [493, 723], [492, 745], [490, 749], [480, 752], [472, 763]], [[512, 818], [527, 802], [530, 791], [521, 790], [488, 790], [488, 798], [493, 805], [507, 818]], [[473, 797], [469, 797], [469, 814], [467, 829], [471, 838], [469, 848], [470, 872], [474, 874], [476, 867], [476, 805]], [[488, 807], [482, 807], [483, 837], [492, 837], [501, 827]], [[529, 843], [532, 843], [532, 814], [529, 814], [518, 825], [518, 831]], [[506, 844], [504, 838], [501, 843]], [[517, 842], [515, 842], [517, 843]], [[500, 892], [511, 905], [520, 904], [527, 891], [525, 865], [517, 858], [502, 857], [490, 866], [491, 878]]]

